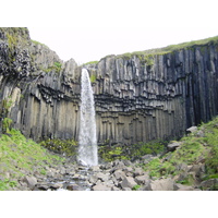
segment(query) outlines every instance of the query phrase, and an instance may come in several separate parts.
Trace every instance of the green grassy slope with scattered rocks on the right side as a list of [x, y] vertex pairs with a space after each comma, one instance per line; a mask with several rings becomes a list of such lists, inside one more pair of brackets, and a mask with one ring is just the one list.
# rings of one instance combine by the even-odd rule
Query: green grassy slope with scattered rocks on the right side
[[[191, 133], [180, 140], [182, 145], [174, 152], [153, 159], [144, 165], [150, 177], [171, 177], [182, 173], [181, 166], [205, 165], [205, 173], [198, 178], [201, 181], [218, 178], [218, 118], [198, 126], [197, 132]], [[178, 181], [183, 184], [193, 184], [193, 178], [186, 175]]]

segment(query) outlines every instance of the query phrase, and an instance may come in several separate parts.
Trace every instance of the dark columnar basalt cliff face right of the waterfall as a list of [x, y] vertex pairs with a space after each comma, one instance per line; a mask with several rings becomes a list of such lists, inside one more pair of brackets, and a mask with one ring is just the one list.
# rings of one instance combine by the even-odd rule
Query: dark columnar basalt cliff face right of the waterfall
[[218, 112], [218, 45], [166, 55], [111, 56], [87, 65], [98, 140], [146, 142], [177, 137]]

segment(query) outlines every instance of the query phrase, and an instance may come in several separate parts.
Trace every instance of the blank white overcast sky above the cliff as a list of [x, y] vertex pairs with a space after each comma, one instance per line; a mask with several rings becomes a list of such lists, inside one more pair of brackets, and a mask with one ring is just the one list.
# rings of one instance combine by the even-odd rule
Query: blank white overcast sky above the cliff
[[11, 26], [27, 26], [32, 39], [77, 63], [218, 35], [217, 0], [21, 0], [13, 5], [3, 12], [14, 14]]

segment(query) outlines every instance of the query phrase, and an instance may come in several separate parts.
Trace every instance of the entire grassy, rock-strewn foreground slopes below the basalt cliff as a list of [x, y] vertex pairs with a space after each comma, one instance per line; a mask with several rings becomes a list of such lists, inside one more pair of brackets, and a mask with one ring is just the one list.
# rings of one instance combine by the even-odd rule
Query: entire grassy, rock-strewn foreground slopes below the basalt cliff
[[85, 178], [72, 158], [51, 155], [12, 129], [0, 138], [0, 190], [57, 190], [69, 177], [69, 190], [82, 189], [72, 185], [74, 180], [87, 180], [92, 190], [218, 190], [218, 118], [190, 131], [165, 148], [159, 144], [158, 155], [145, 152], [146, 144], [132, 150], [138, 154], [134, 161], [120, 149], [105, 150], [104, 157], [116, 156], [90, 168]]

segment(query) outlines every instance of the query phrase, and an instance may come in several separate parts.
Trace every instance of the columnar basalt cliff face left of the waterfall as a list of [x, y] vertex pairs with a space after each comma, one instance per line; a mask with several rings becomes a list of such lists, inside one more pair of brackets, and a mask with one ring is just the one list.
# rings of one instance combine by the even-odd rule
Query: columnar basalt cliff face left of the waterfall
[[11, 118], [14, 128], [34, 140], [76, 138], [77, 72], [73, 59], [63, 63], [56, 52], [31, 40], [26, 28], [1, 28], [1, 120]]

